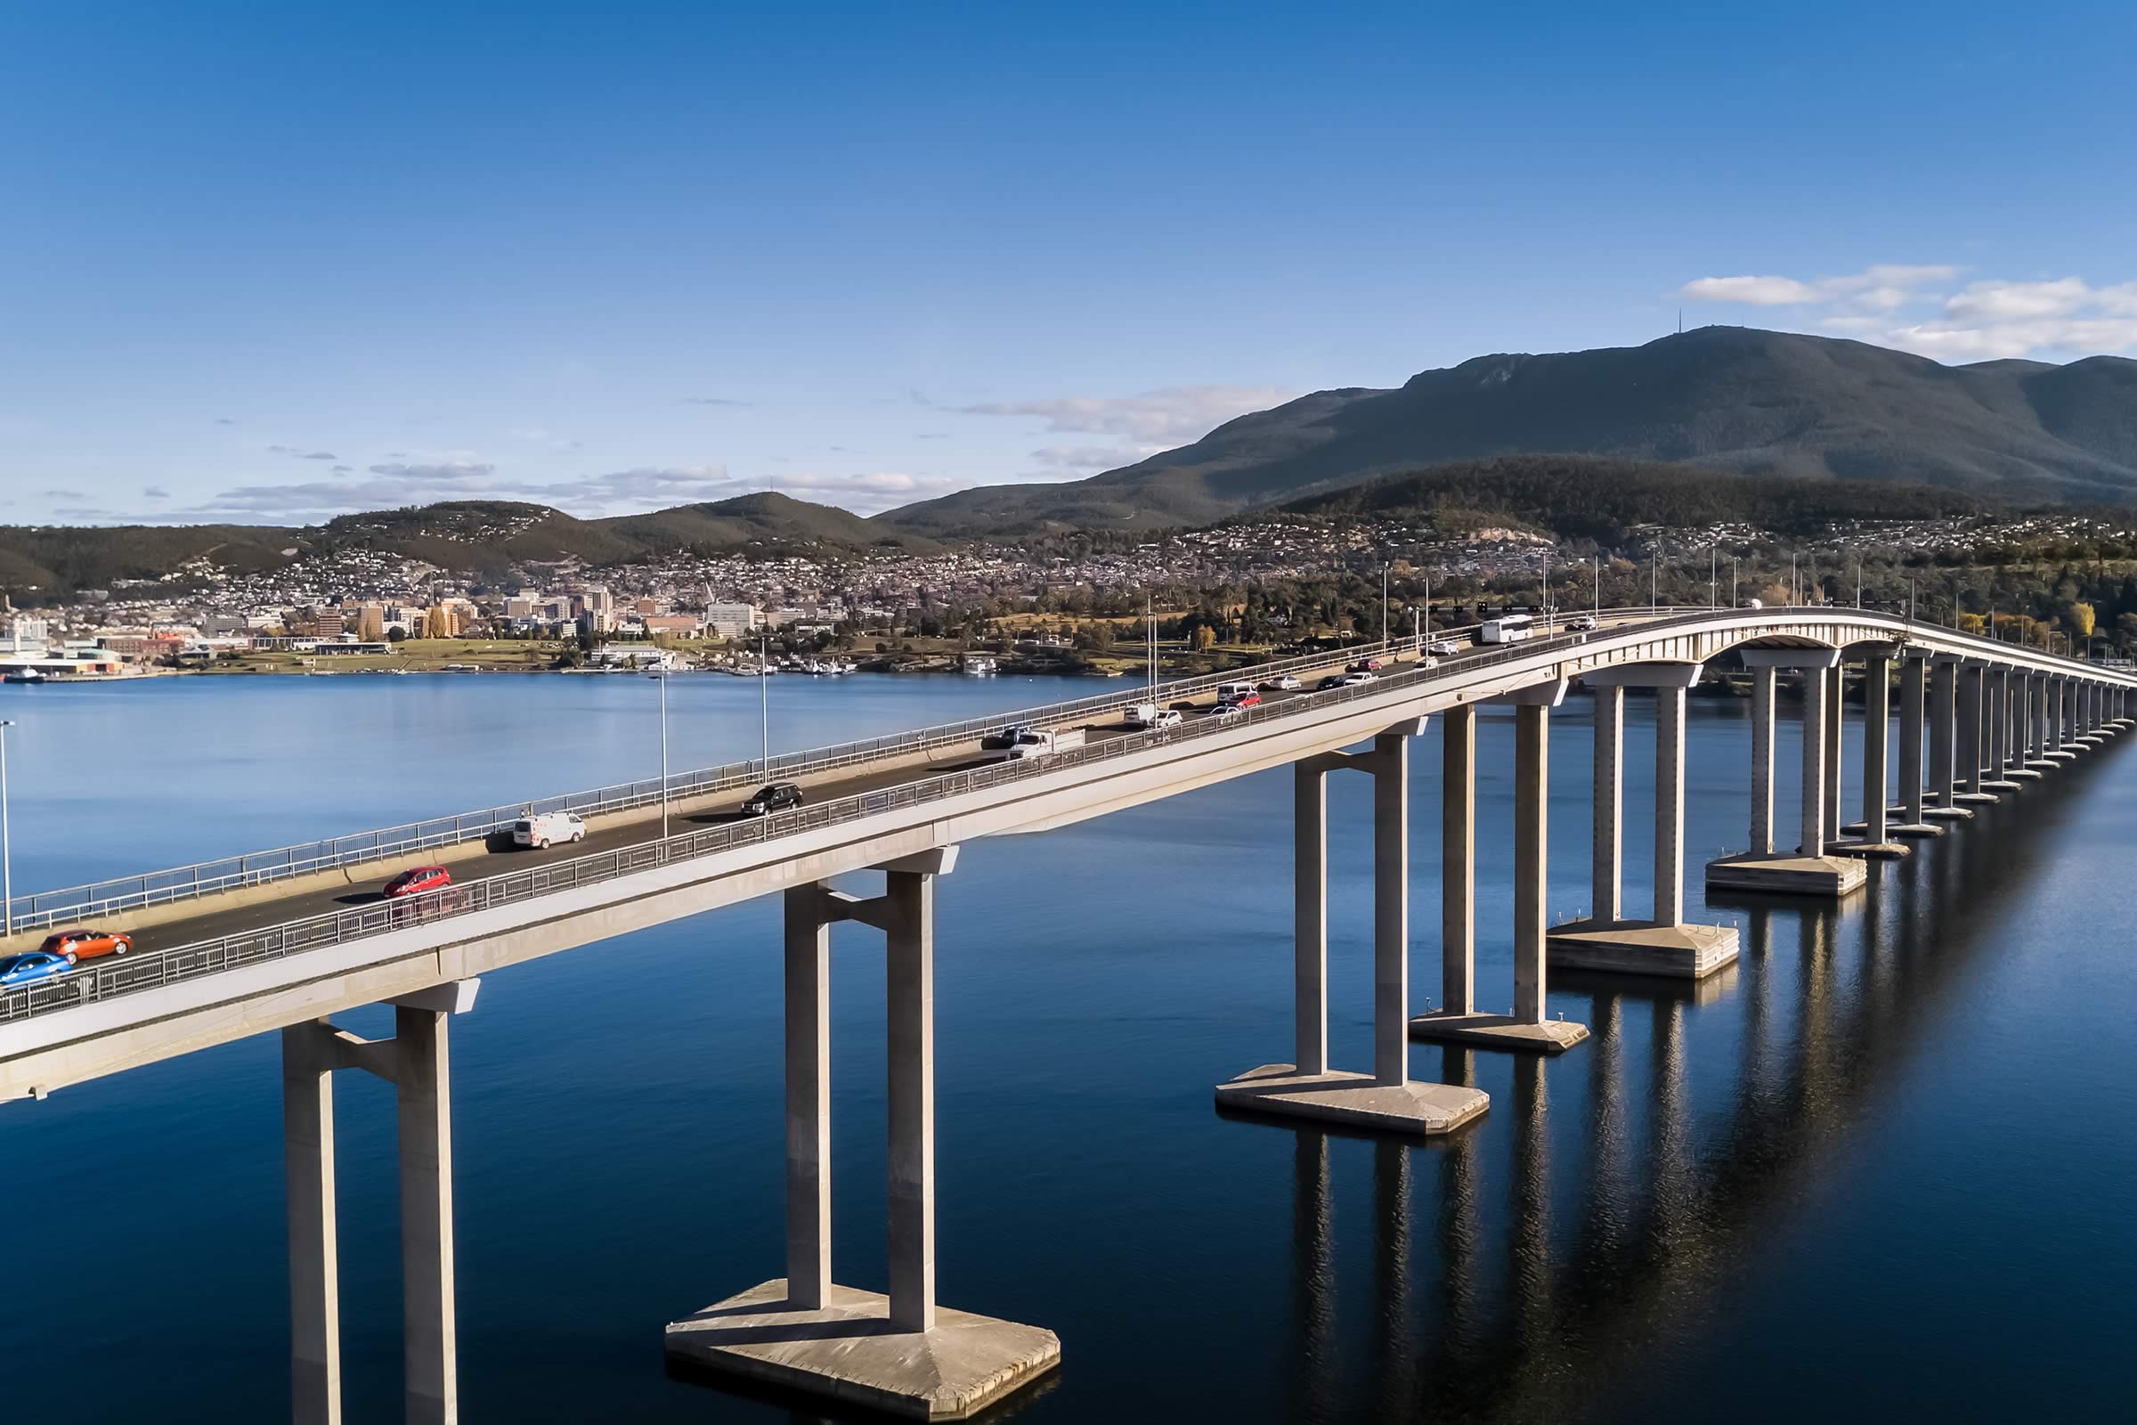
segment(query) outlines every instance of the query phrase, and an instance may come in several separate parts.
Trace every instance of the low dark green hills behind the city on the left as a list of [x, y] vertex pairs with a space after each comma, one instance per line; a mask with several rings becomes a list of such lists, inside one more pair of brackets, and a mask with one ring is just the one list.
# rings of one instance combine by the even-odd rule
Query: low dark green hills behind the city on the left
[[829, 504], [780, 494], [684, 504], [654, 515], [577, 519], [547, 504], [449, 500], [340, 515], [323, 526], [0, 526], [0, 590], [41, 602], [53, 594], [167, 579], [207, 560], [231, 573], [278, 568], [291, 558], [376, 549], [440, 568], [502, 573], [579, 560], [624, 564], [665, 553], [737, 553], [891, 545], [934, 553], [936, 541], [891, 530]]

